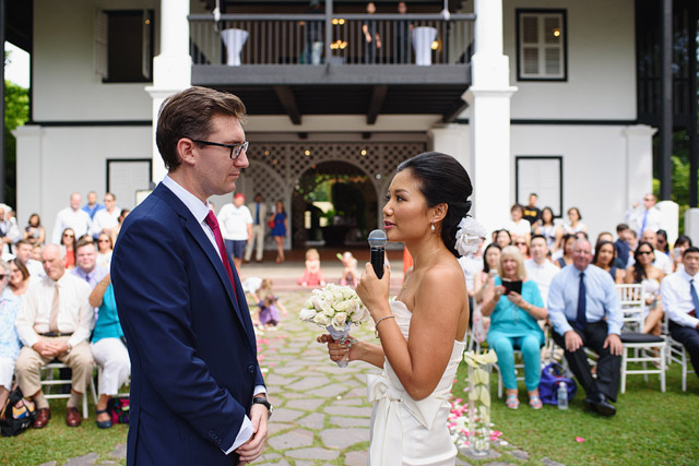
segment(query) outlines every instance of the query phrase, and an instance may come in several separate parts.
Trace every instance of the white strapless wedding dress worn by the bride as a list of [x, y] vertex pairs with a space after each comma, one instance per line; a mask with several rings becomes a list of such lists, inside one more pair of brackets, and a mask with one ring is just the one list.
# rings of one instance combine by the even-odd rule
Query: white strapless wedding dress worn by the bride
[[[412, 313], [398, 300], [390, 301], [405, 339]], [[457, 447], [447, 428], [449, 397], [465, 342], [454, 342], [445, 373], [435, 391], [419, 402], [410, 397], [393, 372], [388, 359], [381, 374], [367, 375], [371, 411], [371, 445], [368, 465], [453, 465]]]

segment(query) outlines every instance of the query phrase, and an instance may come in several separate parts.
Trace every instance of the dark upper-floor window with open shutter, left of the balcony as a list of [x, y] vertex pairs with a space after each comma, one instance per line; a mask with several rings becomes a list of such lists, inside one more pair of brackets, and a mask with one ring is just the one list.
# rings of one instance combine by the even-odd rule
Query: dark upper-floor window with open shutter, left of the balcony
[[152, 81], [153, 17], [153, 10], [97, 12], [95, 71], [103, 82]]

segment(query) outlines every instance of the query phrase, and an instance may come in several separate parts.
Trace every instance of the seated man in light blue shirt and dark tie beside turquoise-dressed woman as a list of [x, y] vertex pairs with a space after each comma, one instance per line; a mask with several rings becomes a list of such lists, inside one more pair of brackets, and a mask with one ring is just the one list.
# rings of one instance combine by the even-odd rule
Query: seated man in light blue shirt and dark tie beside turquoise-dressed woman
[[[572, 248], [572, 265], [554, 277], [548, 289], [553, 337], [565, 349], [568, 366], [585, 391], [583, 401], [602, 416], [614, 416], [621, 367], [621, 306], [612, 276], [591, 265], [592, 247], [580, 239]], [[597, 378], [592, 377], [583, 347], [596, 353]]]

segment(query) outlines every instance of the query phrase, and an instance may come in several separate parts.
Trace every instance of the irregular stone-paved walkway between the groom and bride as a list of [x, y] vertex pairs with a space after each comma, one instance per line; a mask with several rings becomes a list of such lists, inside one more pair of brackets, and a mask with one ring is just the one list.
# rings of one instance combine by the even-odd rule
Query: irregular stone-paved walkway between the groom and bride
[[[298, 320], [298, 310], [310, 290], [300, 288], [291, 279], [301, 273], [303, 265], [250, 264], [242, 268], [244, 276], [272, 277], [275, 290], [279, 289], [277, 282], [284, 284], [285, 290], [277, 292], [288, 310], [280, 327], [258, 336], [259, 359], [275, 409], [264, 455], [254, 464], [365, 465], [371, 414], [366, 399], [366, 373], [378, 369], [364, 362], [337, 368], [328, 359], [324, 345], [316, 343], [321, 328]], [[332, 267], [327, 271], [327, 277], [332, 278]], [[336, 272], [339, 276], [340, 270]], [[392, 279], [399, 288], [401, 275]], [[374, 339], [374, 326], [365, 323], [353, 334], [360, 339]], [[457, 464], [522, 464], [529, 458], [526, 452], [507, 445], [507, 442], [498, 442], [495, 447], [488, 458], [474, 461], [460, 455]], [[114, 456], [122, 454], [123, 445], [115, 451]], [[72, 458], [68, 464], [87, 466], [95, 465], [95, 462], [96, 454], [88, 454]], [[556, 465], [555, 462], [547, 464]]]

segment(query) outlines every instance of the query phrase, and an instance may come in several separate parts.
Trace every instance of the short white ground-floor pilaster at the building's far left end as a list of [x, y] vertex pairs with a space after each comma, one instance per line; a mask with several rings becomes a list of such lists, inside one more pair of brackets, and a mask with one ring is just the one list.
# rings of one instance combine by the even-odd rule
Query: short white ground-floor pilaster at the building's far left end
[[[42, 202], [44, 186], [48, 186], [44, 179], [44, 164], [42, 163], [42, 127], [25, 124], [12, 131], [16, 138], [16, 178], [25, 180], [17, 183], [17, 225], [26, 225], [33, 212], [46, 212]], [[28, 180], [33, 180], [28, 181]], [[49, 193], [50, 194], [50, 193]], [[44, 226], [52, 226], [52, 218], [43, 217]]]

